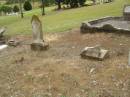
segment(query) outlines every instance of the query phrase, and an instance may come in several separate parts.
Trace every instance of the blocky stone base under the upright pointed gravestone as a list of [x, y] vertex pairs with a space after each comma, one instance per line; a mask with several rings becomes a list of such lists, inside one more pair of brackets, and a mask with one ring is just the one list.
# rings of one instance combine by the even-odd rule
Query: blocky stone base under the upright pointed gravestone
[[49, 44], [45, 42], [31, 44], [31, 50], [34, 50], [34, 51], [43, 51], [43, 50], [47, 50], [48, 48], [49, 48]]

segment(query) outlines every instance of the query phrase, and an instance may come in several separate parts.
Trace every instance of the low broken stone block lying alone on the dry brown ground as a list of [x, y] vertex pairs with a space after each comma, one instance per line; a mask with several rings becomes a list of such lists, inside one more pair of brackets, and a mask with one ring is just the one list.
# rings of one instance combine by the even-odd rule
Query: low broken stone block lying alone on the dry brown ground
[[100, 46], [85, 47], [80, 55], [83, 58], [94, 58], [103, 60], [108, 55], [108, 50], [102, 49]]

